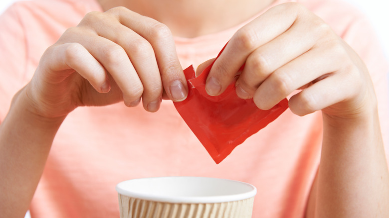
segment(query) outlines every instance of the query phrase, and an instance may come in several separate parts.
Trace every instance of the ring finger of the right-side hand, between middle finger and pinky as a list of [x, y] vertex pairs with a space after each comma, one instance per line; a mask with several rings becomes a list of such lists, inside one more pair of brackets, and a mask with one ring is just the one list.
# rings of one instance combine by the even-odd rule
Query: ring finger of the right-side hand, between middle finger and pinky
[[331, 48], [314, 48], [275, 70], [256, 90], [254, 103], [271, 109], [298, 88], [337, 71], [342, 63], [335, 55]]

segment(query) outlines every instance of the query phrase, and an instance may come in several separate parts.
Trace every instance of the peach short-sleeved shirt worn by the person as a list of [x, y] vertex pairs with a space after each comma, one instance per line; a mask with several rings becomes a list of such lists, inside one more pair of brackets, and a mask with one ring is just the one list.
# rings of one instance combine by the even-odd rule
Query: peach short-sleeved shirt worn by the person
[[[276, 0], [275, 4], [290, 0]], [[322, 17], [365, 60], [376, 87], [388, 147], [388, 65], [367, 18], [339, 0], [297, 0]], [[43, 51], [89, 11], [95, 0], [15, 3], [0, 16], [0, 120], [32, 77]], [[247, 21], [248, 22], [248, 21]], [[215, 57], [239, 26], [196, 38], [176, 37], [183, 68]], [[255, 185], [254, 218], [302, 218], [319, 166], [321, 113], [290, 110], [216, 165], [171, 101], [156, 113], [142, 104], [71, 112], [53, 142], [30, 211], [32, 218], [118, 218], [115, 185], [156, 176], [206, 176]]]

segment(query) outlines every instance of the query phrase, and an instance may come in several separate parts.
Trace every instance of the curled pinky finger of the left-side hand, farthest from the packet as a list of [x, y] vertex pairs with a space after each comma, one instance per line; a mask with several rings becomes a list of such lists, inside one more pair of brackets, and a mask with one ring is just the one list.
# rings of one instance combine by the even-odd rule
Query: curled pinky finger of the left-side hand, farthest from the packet
[[[52, 70], [62, 71], [71, 68], [88, 80], [97, 92], [109, 92], [110, 84], [104, 67], [82, 45], [78, 43], [61, 44], [52, 51], [52, 54], [60, 54], [59, 60], [63, 62]], [[56, 55], [49, 56], [56, 57]], [[49, 63], [58, 62], [50, 60]], [[63, 76], [67, 77], [68, 75]]]

